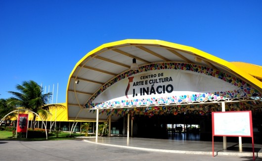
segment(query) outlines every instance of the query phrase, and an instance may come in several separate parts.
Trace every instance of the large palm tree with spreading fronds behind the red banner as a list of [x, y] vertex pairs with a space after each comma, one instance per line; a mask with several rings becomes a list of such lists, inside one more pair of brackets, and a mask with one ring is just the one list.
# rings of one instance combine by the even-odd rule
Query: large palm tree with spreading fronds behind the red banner
[[[48, 104], [52, 93], [43, 94], [43, 87], [35, 81], [24, 81], [22, 85], [16, 85], [16, 89], [20, 92], [8, 91], [13, 97], [10, 98], [12, 105], [31, 110], [43, 119], [50, 114], [49, 109], [53, 107], [64, 107], [58, 104]], [[36, 115], [34, 114], [33, 123], [35, 124]], [[34, 127], [33, 127], [34, 128]]]

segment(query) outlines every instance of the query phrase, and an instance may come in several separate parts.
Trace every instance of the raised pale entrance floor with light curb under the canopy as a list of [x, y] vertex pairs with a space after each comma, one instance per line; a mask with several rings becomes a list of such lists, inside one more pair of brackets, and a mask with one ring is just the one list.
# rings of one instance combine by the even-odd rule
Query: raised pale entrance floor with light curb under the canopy
[[[85, 140], [87, 142], [95, 143], [95, 138], [87, 138]], [[149, 138], [129, 138], [128, 140], [127, 137], [100, 137], [98, 138], [97, 144], [166, 153], [213, 155], [212, 142], [207, 141]], [[262, 157], [262, 145], [255, 144], [254, 147], [255, 156]], [[253, 156], [252, 144], [249, 143], [242, 144], [242, 151], [240, 151], [238, 143], [230, 142], [227, 143], [227, 150], [222, 149], [222, 142], [214, 143], [215, 155]]]

